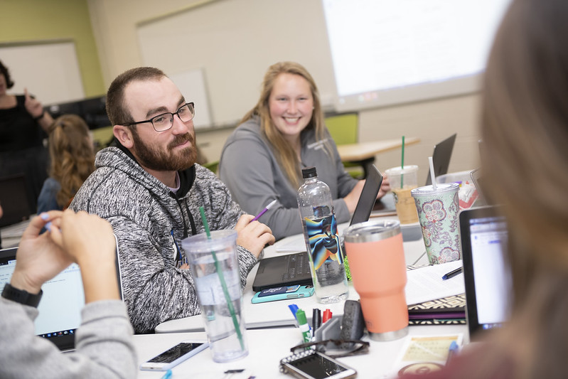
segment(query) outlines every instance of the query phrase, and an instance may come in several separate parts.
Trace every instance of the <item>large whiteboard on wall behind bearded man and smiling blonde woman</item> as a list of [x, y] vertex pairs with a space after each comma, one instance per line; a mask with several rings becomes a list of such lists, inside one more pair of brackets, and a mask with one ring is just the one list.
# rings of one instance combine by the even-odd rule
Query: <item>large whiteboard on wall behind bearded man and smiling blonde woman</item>
[[286, 6], [266, 0], [198, 4], [137, 24], [136, 36], [144, 65], [168, 76], [201, 70], [214, 126], [242, 119], [256, 105], [269, 65], [282, 60], [304, 65], [318, 83], [323, 104], [333, 105], [333, 69], [320, 0], [286, 0]]

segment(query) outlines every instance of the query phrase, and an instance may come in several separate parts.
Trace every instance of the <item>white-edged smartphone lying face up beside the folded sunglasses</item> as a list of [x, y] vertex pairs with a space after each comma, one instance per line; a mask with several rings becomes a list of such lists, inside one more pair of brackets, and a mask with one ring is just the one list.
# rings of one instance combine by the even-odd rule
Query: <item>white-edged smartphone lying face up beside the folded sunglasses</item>
[[319, 351], [303, 351], [280, 361], [280, 370], [299, 379], [349, 379], [357, 371]]

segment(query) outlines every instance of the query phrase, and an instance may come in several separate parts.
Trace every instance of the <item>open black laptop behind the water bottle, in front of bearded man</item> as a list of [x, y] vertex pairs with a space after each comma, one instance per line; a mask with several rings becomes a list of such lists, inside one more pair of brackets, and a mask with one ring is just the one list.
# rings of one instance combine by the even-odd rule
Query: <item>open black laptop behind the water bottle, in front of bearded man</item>
[[[349, 225], [369, 220], [381, 183], [382, 175], [377, 167], [373, 165], [369, 170], [365, 186], [363, 186], [363, 191], [355, 206], [355, 212], [353, 212]], [[312, 284], [310, 261], [307, 252], [297, 252], [295, 254], [280, 255], [260, 260], [256, 277], [254, 277], [254, 282], [252, 283], [252, 290], [259, 292], [262, 289], [286, 287], [295, 284]]]

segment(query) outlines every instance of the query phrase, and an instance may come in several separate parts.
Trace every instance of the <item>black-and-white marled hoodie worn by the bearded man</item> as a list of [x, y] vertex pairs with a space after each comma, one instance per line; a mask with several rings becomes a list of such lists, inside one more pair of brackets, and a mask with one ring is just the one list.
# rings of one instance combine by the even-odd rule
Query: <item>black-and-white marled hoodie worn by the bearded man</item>
[[[195, 164], [179, 171], [180, 188], [174, 194], [124, 147], [101, 150], [95, 166], [71, 207], [112, 224], [119, 243], [124, 301], [134, 331], [147, 333], [161, 322], [199, 314], [191, 272], [176, 268], [176, 245], [181, 250], [181, 240], [204, 232], [200, 206], [211, 230], [235, 227], [244, 212], [232, 201], [225, 184]], [[257, 259], [244, 247], [237, 250], [244, 287]]]

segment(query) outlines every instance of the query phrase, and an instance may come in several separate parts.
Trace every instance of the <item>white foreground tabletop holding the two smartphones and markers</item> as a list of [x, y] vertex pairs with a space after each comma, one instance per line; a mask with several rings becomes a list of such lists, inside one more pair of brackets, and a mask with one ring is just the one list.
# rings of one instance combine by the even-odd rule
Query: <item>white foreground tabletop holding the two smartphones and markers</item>
[[[463, 341], [468, 341], [466, 325], [409, 326], [411, 336], [439, 336], [463, 333]], [[279, 372], [279, 361], [289, 356], [290, 348], [301, 343], [298, 328], [252, 329], [246, 331], [249, 355], [231, 363], [215, 363], [210, 349], [198, 353], [173, 368], [173, 379], [221, 379], [221, 378], [291, 378]], [[171, 346], [186, 339], [205, 341], [205, 332], [161, 333], [134, 336], [139, 364], [166, 351]], [[368, 337], [364, 340], [370, 341]], [[368, 354], [338, 358], [358, 371], [358, 378], [387, 378], [404, 346], [404, 338], [395, 341], [370, 341]], [[225, 370], [245, 368], [247, 375], [225, 376]], [[245, 374], [245, 373], [243, 373]], [[163, 372], [139, 371], [139, 378], [161, 378]]]

